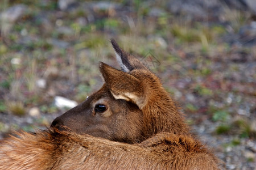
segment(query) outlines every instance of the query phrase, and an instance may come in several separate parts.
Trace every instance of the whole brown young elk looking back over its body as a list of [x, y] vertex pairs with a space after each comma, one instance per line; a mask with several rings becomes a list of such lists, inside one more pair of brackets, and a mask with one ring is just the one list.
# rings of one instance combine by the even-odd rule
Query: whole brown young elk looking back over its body
[[112, 45], [122, 71], [101, 62], [104, 86], [56, 118], [53, 129], [2, 141], [0, 169], [218, 169], [159, 78]]

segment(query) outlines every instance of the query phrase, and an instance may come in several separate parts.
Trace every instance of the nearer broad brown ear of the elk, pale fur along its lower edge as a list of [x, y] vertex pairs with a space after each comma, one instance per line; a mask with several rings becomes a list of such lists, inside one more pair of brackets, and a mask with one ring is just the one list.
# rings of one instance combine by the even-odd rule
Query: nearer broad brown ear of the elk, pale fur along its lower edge
[[140, 109], [146, 104], [144, 88], [141, 80], [121, 70], [100, 62], [100, 71], [105, 80], [106, 86], [115, 99], [131, 101]]

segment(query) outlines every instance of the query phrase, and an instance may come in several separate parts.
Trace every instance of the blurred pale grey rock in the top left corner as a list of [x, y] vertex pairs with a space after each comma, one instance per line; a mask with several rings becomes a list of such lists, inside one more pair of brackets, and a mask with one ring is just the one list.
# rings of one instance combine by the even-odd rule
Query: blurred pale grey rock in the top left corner
[[18, 20], [22, 15], [27, 11], [27, 6], [25, 5], [15, 5], [7, 8], [7, 10], [3, 11], [1, 14], [2, 22], [14, 23]]

